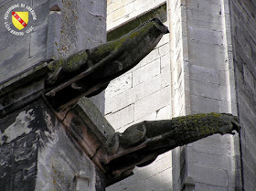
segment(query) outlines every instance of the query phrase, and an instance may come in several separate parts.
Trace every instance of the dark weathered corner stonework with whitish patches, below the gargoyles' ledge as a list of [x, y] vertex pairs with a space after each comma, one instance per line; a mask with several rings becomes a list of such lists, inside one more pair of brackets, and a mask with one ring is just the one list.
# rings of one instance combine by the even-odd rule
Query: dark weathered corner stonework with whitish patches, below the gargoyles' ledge
[[6, 191], [104, 190], [101, 172], [43, 101], [3, 118], [0, 140], [0, 186]]

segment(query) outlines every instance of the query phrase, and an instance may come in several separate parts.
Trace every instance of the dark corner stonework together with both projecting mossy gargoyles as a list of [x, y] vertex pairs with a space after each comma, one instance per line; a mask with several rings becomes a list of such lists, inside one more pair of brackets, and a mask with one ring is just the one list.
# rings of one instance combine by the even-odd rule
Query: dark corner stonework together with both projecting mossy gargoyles
[[159, 154], [214, 133], [239, 131], [230, 114], [140, 122], [115, 133], [88, 99], [153, 50], [168, 33], [154, 18], [69, 58], [48, 60], [0, 90], [2, 190], [103, 191]]

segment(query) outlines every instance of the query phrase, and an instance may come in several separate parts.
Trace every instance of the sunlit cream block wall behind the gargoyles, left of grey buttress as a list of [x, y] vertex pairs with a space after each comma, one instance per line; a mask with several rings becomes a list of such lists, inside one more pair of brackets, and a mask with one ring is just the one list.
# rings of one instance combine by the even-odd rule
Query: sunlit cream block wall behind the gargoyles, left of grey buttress
[[[164, 1], [151, 2], [108, 1], [108, 28], [115, 27], [112, 28], [113, 33], [119, 28], [129, 28], [127, 25], [133, 26], [136, 16], [135, 20], [141, 24], [145, 21], [144, 17], [156, 16], [155, 12], [158, 11], [152, 10], [153, 14], [150, 14], [150, 8], [159, 10], [157, 7], [162, 7]], [[166, 9], [164, 13], [165, 20], [162, 21], [168, 25]], [[115, 14], [117, 16], [114, 16]], [[123, 22], [126, 22], [125, 25], [119, 26]], [[113, 80], [105, 90], [106, 119], [119, 132], [137, 122], [170, 119], [170, 79], [169, 37], [165, 35], [156, 48], [134, 69]], [[153, 164], [135, 168], [134, 175], [107, 187], [107, 190], [169, 190], [172, 186], [171, 164], [171, 153], [163, 154]]]

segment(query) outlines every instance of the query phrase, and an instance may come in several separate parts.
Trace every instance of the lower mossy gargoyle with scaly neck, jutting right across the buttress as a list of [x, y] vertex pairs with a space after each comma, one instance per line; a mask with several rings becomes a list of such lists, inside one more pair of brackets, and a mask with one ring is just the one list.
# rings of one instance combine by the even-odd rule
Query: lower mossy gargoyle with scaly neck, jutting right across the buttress
[[238, 117], [226, 113], [195, 114], [172, 120], [139, 122], [115, 133], [106, 144], [105, 164], [113, 176], [129, 175], [135, 166], [151, 164], [159, 154], [209, 135], [240, 131]]

